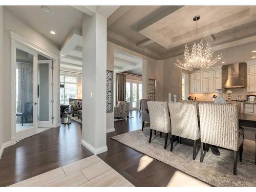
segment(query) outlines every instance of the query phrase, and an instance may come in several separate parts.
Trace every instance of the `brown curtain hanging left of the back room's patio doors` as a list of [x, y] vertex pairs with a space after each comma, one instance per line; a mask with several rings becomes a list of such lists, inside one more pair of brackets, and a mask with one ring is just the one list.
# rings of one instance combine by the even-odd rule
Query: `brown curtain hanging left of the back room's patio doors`
[[126, 75], [116, 74], [116, 104], [117, 101], [125, 101]]

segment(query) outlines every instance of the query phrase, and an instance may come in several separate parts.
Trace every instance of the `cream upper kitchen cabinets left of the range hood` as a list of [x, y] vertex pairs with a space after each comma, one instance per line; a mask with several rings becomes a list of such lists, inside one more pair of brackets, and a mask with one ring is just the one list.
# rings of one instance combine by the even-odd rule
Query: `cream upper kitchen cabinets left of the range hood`
[[214, 93], [221, 89], [221, 66], [189, 74], [189, 93]]

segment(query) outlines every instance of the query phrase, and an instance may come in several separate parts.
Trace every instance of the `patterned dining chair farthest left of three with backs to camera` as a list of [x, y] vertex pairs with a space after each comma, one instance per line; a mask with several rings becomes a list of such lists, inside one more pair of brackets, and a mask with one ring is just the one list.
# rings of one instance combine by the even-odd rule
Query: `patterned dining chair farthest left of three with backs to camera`
[[165, 133], [164, 148], [167, 146], [168, 133], [170, 133], [170, 118], [167, 102], [148, 101], [148, 111], [150, 113], [150, 140], [152, 138], [152, 130], [159, 131], [160, 134]]

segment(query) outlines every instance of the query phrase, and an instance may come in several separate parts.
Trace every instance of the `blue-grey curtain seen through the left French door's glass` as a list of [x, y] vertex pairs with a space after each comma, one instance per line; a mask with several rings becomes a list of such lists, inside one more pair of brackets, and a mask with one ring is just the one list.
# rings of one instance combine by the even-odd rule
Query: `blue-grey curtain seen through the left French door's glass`
[[[25, 106], [33, 103], [33, 63], [16, 62], [16, 70], [16, 110], [19, 113], [25, 113]], [[28, 115], [27, 120], [33, 121], [33, 114]], [[20, 123], [20, 118], [17, 118], [17, 123]]]

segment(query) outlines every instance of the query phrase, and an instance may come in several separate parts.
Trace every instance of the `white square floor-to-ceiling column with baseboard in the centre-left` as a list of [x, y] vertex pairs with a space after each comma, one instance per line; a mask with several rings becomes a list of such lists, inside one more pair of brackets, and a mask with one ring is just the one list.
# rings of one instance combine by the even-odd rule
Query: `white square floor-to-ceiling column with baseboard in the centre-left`
[[92, 153], [106, 146], [106, 18], [95, 13], [82, 20], [82, 145]]

